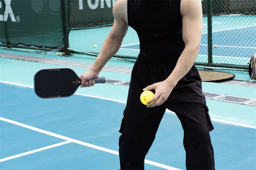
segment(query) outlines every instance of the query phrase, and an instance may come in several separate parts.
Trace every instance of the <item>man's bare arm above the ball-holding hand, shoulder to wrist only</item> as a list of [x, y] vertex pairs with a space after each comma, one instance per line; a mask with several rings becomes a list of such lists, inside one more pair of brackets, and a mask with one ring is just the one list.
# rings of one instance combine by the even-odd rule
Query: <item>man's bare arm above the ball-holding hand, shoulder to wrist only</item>
[[185, 49], [167, 81], [173, 85], [183, 78], [193, 66], [199, 53], [202, 36], [202, 4], [200, 0], [181, 0], [182, 37]]

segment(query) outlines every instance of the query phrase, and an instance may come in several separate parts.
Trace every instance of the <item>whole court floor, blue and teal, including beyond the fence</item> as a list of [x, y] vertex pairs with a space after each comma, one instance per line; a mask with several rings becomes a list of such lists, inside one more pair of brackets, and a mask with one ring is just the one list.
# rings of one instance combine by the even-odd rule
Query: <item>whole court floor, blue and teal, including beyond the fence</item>
[[[213, 17], [214, 63], [246, 65], [255, 53], [254, 23], [246, 17]], [[207, 61], [207, 23], [204, 18], [201, 50]], [[237, 25], [240, 23], [241, 25]], [[99, 52], [109, 27], [71, 31], [70, 48]], [[251, 31], [242, 37], [244, 31]], [[104, 35], [103, 35], [104, 33]], [[95, 37], [88, 36], [95, 34]], [[76, 37], [76, 36], [80, 37]], [[135, 35], [135, 36], [134, 36]], [[224, 36], [225, 35], [225, 36]], [[236, 35], [235, 37], [227, 37]], [[131, 38], [134, 36], [134, 38]], [[91, 37], [88, 39], [87, 37]], [[214, 38], [214, 37], [219, 37]], [[129, 31], [118, 54], [136, 56], [139, 41]], [[230, 50], [232, 49], [232, 50]], [[70, 67], [78, 75], [90, 68], [95, 57], [54, 53], [36, 54], [0, 49], [0, 169], [1, 170], [117, 170], [118, 132], [123, 118], [133, 63], [111, 59], [100, 76], [107, 84], [79, 88], [69, 98], [40, 99], [33, 89], [34, 73], [42, 68]], [[248, 73], [228, 71], [237, 81], [249, 81]], [[245, 82], [244, 84], [246, 84]], [[256, 169], [256, 86], [203, 82], [214, 130], [210, 132], [216, 170]], [[150, 108], [149, 108], [150, 109]], [[185, 170], [183, 130], [179, 119], [166, 110], [156, 139], [145, 159], [146, 170]]]

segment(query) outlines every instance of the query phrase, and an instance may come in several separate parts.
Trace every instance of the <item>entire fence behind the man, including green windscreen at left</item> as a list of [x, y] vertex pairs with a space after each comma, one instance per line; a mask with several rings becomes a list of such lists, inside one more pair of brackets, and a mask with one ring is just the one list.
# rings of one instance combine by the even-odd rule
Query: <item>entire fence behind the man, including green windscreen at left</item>
[[[229, 68], [247, 65], [249, 58], [256, 52], [256, 0], [201, 1], [203, 33], [196, 64]], [[5, 8], [4, 2], [0, 0], [2, 8]], [[112, 28], [115, 2], [13, 1], [10, 17], [6, 19], [4, 10], [0, 11], [0, 19], [3, 16], [4, 20], [0, 20], [0, 46], [24, 45], [63, 51], [68, 47], [76, 53], [89, 52], [97, 56]], [[25, 4], [31, 8], [27, 8], [24, 13], [22, 5]], [[134, 61], [139, 54], [139, 47], [137, 33], [129, 27], [116, 57]]]

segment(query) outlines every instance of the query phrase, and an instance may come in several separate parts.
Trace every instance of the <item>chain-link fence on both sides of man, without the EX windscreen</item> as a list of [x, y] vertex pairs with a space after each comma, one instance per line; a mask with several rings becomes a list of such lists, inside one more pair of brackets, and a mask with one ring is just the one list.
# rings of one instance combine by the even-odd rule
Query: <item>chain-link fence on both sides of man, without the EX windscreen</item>
[[[110, 32], [115, 0], [71, 0], [69, 47], [99, 53]], [[196, 63], [247, 65], [256, 51], [256, 0], [212, 0], [212, 23], [208, 24], [208, 0], [202, 0], [203, 34]], [[210, 17], [210, 16], [209, 16]], [[208, 47], [208, 27], [212, 27], [212, 47]], [[94, 45], [97, 45], [95, 48]], [[129, 27], [116, 55], [138, 56], [139, 39]], [[125, 58], [125, 57], [124, 57]]]

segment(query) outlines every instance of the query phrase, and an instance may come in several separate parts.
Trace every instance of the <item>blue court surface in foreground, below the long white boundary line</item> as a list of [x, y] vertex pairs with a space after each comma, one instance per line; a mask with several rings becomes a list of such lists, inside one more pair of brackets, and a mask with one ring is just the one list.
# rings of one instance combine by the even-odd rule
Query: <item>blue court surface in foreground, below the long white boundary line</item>
[[[29, 86], [7, 83], [0, 89], [1, 169], [119, 169], [124, 102], [76, 94], [45, 100]], [[213, 125], [216, 169], [255, 169], [256, 129]], [[185, 169], [182, 139], [180, 121], [166, 112], [145, 169]]]

